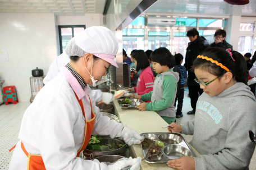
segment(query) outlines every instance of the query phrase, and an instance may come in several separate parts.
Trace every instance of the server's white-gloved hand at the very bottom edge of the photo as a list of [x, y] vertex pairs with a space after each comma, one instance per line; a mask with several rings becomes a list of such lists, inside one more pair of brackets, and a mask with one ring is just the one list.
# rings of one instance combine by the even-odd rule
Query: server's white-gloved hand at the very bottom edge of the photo
[[112, 165], [108, 166], [108, 170], [121, 170], [123, 168], [132, 166], [130, 169], [131, 170], [139, 170], [140, 169], [140, 162], [141, 158], [137, 157], [132, 159], [130, 158], [122, 158], [117, 160], [116, 163], [113, 163]]

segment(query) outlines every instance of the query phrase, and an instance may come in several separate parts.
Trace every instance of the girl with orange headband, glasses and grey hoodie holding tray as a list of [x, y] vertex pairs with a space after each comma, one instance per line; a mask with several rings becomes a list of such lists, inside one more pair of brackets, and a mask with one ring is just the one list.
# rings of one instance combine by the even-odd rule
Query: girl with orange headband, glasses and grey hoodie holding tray
[[195, 82], [204, 93], [196, 103], [195, 119], [170, 124], [169, 131], [194, 135], [190, 144], [200, 158], [169, 160], [175, 169], [249, 169], [255, 144], [256, 103], [246, 86], [246, 62], [237, 51], [208, 48], [194, 60]]

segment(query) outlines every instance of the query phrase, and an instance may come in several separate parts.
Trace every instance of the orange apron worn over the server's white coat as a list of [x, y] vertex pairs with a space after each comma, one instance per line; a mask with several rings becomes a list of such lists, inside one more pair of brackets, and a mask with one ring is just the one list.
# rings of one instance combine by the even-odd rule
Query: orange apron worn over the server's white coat
[[[75, 93], [75, 92], [74, 92]], [[76, 95], [76, 93], [75, 93]], [[89, 97], [89, 95], [88, 95]], [[79, 102], [79, 105], [81, 106], [81, 109], [83, 111], [83, 116], [84, 116], [84, 119], [85, 119], [85, 112], [84, 112], [84, 105], [83, 105], [83, 102], [82, 100], [79, 100], [79, 98], [77, 97], [76, 95], [76, 99], [77, 101]], [[89, 100], [90, 100], [90, 97], [89, 97]], [[92, 111], [91, 111], [91, 114], [92, 114], [92, 119], [91, 120], [88, 120], [86, 121], [85, 119], [85, 130], [84, 130], [84, 141], [83, 141], [83, 145], [81, 146], [81, 148], [78, 150], [77, 152], [77, 155], [76, 157], [79, 157], [80, 153], [87, 147], [88, 143], [89, 143], [89, 140], [90, 140], [90, 136], [93, 132], [93, 126], [94, 126], [94, 122], [95, 122], [95, 115], [94, 115], [94, 112], [93, 112], [93, 106], [92, 106], [92, 102], [90, 100], [90, 106], [92, 108]], [[15, 145], [16, 146], [16, 145]], [[12, 151], [13, 148], [12, 147], [9, 152]], [[29, 154], [26, 149], [24, 148], [24, 144], [22, 143], [21, 141], [21, 148], [23, 150], [23, 152], [27, 155], [28, 157], [28, 165], [27, 165], [27, 170], [44, 170], [45, 169], [45, 166], [44, 166], [44, 162], [43, 162], [43, 158], [41, 155], [33, 155], [33, 154]]]

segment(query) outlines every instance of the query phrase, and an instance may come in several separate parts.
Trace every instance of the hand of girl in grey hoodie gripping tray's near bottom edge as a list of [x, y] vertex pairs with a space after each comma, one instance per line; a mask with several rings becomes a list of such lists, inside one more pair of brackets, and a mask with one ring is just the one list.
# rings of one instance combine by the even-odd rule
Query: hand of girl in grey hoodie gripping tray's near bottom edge
[[166, 164], [175, 169], [195, 170], [195, 159], [188, 156], [169, 160]]

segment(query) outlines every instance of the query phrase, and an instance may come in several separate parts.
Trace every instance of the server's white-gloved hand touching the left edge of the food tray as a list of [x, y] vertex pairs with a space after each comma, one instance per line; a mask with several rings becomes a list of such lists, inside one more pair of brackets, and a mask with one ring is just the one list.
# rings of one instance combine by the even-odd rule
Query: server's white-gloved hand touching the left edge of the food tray
[[140, 144], [144, 136], [140, 136], [135, 130], [125, 127], [122, 130], [121, 138], [124, 139], [125, 143], [131, 146], [133, 144]]

